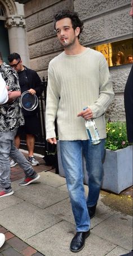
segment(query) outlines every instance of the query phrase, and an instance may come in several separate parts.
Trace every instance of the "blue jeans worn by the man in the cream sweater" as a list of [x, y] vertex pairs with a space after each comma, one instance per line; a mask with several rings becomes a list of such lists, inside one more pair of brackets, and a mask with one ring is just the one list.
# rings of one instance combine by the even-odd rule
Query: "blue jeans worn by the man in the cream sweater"
[[[92, 145], [90, 140], [60, 140], [60, 151], [72, 211], [76, 221], [77, 232], [90, 229], [90, 217], [87, 207], [97, 203], [103, 178], [105, 139], [100, 144]], [[82, 154], [85, 156], [88, 173], [88, 197], [83, 186]]]

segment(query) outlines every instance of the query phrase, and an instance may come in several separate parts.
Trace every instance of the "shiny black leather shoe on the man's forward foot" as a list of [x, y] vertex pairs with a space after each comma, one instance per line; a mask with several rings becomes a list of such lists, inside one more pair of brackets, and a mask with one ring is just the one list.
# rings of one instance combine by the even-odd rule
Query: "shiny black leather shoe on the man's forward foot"
[[77, 232], [70, 243], [70, 250], [74, 251], [75, 253], [82, 250], [85, 246], [85, 240], [89, 235], [90, 230], [86, 232]]

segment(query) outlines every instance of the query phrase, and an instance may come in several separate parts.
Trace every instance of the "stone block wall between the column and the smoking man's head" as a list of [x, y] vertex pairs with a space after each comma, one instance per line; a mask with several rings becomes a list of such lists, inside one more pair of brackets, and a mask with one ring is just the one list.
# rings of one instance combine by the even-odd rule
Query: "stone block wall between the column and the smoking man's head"
[[53, 16], [63, 8], [73, 10], [73, 0], [32, 0], [24, 6], [30, 67], [41, 78], [47, 76], [48, 63], [62, 50], [54, 32]]

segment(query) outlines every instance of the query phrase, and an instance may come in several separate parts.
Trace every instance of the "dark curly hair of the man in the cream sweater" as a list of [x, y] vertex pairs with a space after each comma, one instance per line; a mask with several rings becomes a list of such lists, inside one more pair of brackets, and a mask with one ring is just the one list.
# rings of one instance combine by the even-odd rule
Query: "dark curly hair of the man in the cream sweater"
[[[69, 10], [61, 10], [57, 14], [54, 15], [54, 29], [56, 30], [56, 22], [58, 20], [64, 19], [64, 18], [70, 18], [72, 21], [72, 27], [75, 30], [77, 27], [80, 28], [80, 33], [83, 31], [83, 22], [79, 19], [78, 13], [74, 11], [69, 11]], [[78, 38], [79, 38], [78, 35]]]

